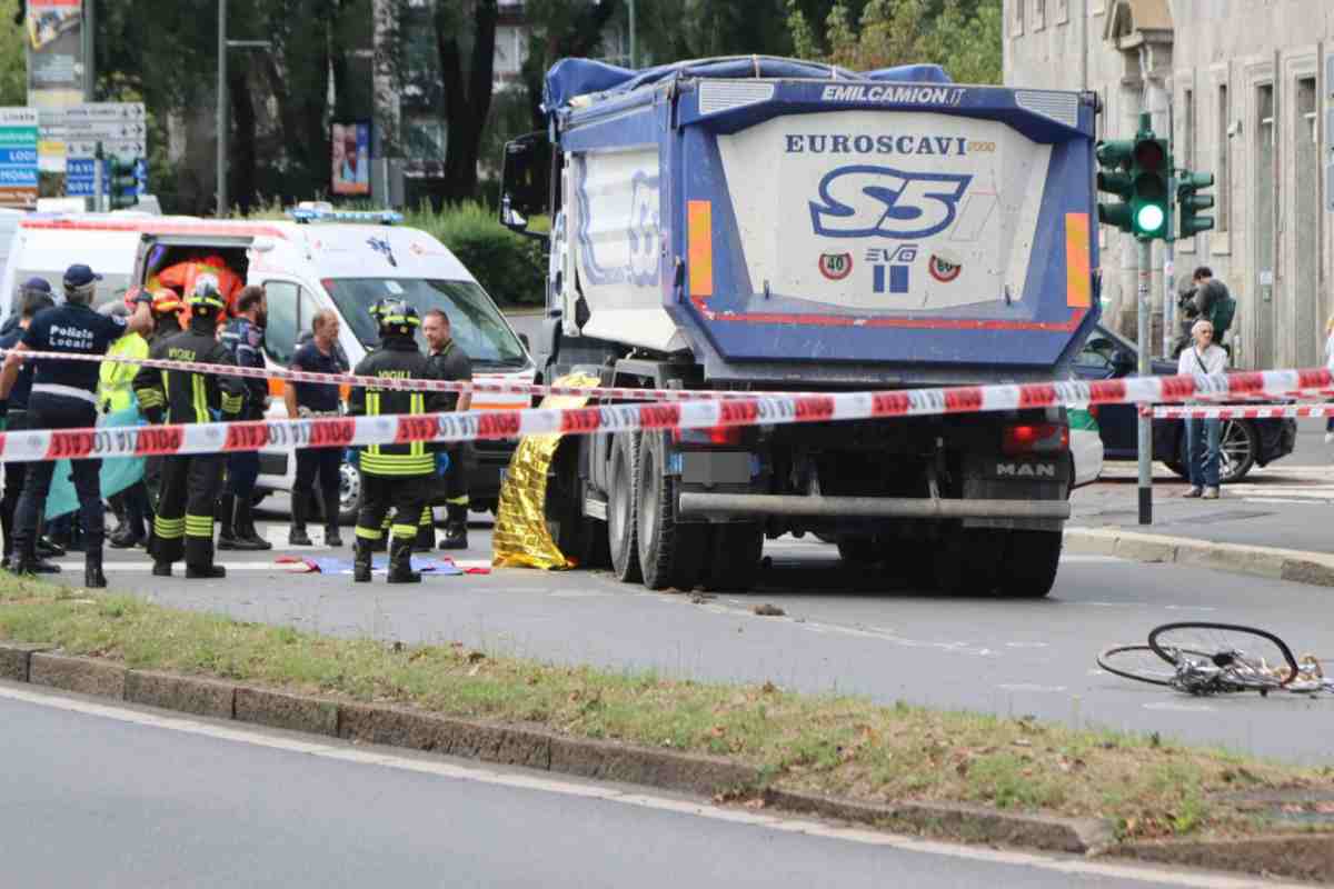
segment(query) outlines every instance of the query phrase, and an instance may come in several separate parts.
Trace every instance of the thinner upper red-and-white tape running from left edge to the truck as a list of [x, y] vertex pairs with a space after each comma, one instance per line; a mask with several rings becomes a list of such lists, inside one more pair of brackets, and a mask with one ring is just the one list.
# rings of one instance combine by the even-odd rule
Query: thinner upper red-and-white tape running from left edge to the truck
[[[754, 392], [738, 392], [727, 389], [634, 389], [626, 387], [570, 387], [570, 385], [539, 385], [535, 383], [502, 383], [487, 380], [404, 380], [396, 377], [364, 377], [351, 373], [319, 373], [313, 371], [288, 371], [285, 368], [240, 368], [233, 364], [205, 364], [201, 361], [179, 361], [175, 359], [139, 359], [124, 355], [69, 355], [65, 352], [37, 352], [33, 349], [13, 349], [24, 360], [39, 361], [91, 361], [101, 364], [132, 364], [159, 371], [184, 371], [191, 373], [205, 373], [228, 377], [244, 377], [251, 380], [284, 380], [287, 383], [313, 383], [319, 385], [348, 385], [374, 387], [376, 389], [395, 389], [406, 392], [486, 392], [492, 395], [527, 395], [527, 396], [587, 396], [594, 399], [612, 399], [619, 401], [708, 401], [726, 399], [752, 399]], [[8, 356], [11, 349], [0, 349], [0, 357]], [[504, 376], [504, 375], [496, 375]], [[791, 395], [791, 393], [783, 393]], [[803, 393], [798, 393], [803, 395]]]

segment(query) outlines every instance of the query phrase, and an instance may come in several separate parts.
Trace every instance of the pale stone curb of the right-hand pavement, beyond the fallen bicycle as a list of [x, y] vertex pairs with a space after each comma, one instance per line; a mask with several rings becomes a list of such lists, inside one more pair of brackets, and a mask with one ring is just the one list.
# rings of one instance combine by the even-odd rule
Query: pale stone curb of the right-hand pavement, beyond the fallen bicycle
[[1233, 574], [1334, 586], [1334, 554], [1301, 549], [1215, 544], [1194, 537], [1146, 534], [1119, 528], [1067, 528], [1067, 552], [1115, 556], [1149, 564], [1191, 565]]

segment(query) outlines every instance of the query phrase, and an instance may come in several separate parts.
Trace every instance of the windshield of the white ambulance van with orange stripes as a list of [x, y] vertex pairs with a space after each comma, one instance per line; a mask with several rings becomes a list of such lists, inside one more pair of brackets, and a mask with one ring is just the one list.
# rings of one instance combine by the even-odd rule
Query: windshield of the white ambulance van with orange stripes
[[[390, 297], [407, 300], [423, 316], [431, 309], [442, 309], [450, 316], [454, 341], [463, 347], [475, 365], [522, 368], [527, 364], [514, 331], [486, 291], [474, 281], [339, 277], [325, 279], [323, 284], [352, 333], [367, 349], [374, 348], [380, 339], [371, 317], [371, 307]], [[420, 333], [418, 341], [424, 344]]]

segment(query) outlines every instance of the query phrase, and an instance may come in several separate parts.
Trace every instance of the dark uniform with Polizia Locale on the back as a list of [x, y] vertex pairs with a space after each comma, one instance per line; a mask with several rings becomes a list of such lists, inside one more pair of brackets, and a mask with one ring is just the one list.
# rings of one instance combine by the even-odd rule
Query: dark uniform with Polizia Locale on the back
[[[125, 319], [108, 317], [87, 305], [67, 303], [39, 312], [21, 343], [35, 352], [107, 355], [112, 343], [125, 335]], [[96, 361], [37, 361], [28, 396], [29, 429], [80, 429], [97, 425]], [[12, 397], [13, 393], [11, 393]], [[101, 506], [101, 460], [72, 460], [71, 474], [79, 494], [85, 549], [101, 558], [104, 536]], [[36, 550], [37, 522], [47, 508], [56, 464], [51, 460], [28, 468], [15, 517], [15, 544], [20, 557], [31, 560]], [[99, 568], [100, 570], [100, 568]]]

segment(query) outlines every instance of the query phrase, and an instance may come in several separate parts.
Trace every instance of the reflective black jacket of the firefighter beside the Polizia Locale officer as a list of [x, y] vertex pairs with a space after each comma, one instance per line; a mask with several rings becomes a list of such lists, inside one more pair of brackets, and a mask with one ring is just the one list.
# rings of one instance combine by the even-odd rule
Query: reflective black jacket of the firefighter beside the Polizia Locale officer
[[[212, 319], [199, 321], [188, 331], [156, 339], [149, 357], [235, 364], [223, 344], [213, 339]], [[135, 396], [153, 423], [213, 423], [240, 417], [245, 407], [245, 384], [240, 377], [144, 368], [135, 375]]]

